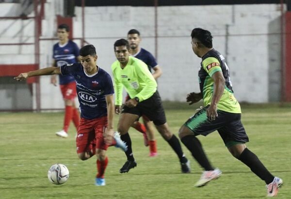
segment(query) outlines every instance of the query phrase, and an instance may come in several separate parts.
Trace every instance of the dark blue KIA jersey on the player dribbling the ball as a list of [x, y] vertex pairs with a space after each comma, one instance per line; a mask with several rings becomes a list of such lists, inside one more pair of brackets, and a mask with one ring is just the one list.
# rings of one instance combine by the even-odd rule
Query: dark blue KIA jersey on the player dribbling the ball
[[81, 118], [92, 120], [107, 116], [105, 95], [113, 94], [114, 90], [112, 79], [105, 70], [98, 67], [97, 73], [89, 76], [81, 63], [74, 63], [61, 66], [61, 72], [76, 80]]

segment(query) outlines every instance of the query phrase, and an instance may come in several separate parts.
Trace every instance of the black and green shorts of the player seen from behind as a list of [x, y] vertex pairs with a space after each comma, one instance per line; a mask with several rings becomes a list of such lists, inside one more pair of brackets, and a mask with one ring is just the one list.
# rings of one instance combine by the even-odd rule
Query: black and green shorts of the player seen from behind
[[195, 136], [207, 136], [217, 130], [227, 147], [235, 143], [245, 143], [249, 141], [241, 122], [240, 113], [217, 110], [218, 117], [211, 121], [207, 117], [207, 108], [208, 107], [203, 107], [200, 109], [184, 124], [193, 131]]

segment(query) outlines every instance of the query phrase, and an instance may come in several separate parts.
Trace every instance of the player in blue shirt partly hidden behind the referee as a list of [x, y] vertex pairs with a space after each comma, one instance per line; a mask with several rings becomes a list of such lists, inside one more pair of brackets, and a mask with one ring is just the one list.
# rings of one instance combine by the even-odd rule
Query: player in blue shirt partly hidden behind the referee
[[[128, 41], [130, 45], [130, 54], [141, 60], [144, 61], [149, 69], [149, 71], [153, 73], [153, 77], [157, 80], [161, 75], [162, 75], [162, 69], [158, 65], [156, 59], [154, 56], [148, 52], [146, 49], [141, 48], [139, 46], [141, 42], [141, 37], [140, 37], [140, 32], [137, 31], [136, 29], [131, 29], [128, 32]], [[148, 142], [145, 141], [145, 145], [149, 145], [149, 156], [150, 157], [155, 157], [157, 156], [157, 142], [155, 140], [155, 134], [154, 134], [154, 125], [153, 122], [149, 121], [145, 116], [143, 116], [143, 122], [144, 124], [140, 122], [134, 122], [132, 127], [135, 128], [136, 130], [140, 131], [143, 133], [143, 135], [146, 135], [148, 138]], [[146, 138], [144, 136], [144, 138]], [[145, 139], [146, 140], [146, 139]]]

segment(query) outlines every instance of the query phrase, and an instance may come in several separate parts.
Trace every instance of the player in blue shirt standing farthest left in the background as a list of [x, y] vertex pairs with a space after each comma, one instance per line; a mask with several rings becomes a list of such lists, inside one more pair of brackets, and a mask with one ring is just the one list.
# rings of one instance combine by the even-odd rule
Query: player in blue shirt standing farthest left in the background
[[[77, 63], [79, 57], [79, 47], [76, 43], [69, 40], [69, 27], [66, 24], [59, 25], [57, 34], [59, 42], [53, 46], [52, 66], [57, 67], [68, 63]], [[51, 76], [50, 82], [57, 86], [56, 75]], [[56, 135], [62, 138], [67, 138], [70, 122], [73, 121], [75, 127], [77, 128], [80, 121], [79, 112], [75, 105], [75, 98], [77, 96], [76, 83], [74, 77], [71, 75], [60, 75], [59, 83], [65, 102], [65, 117], [63, 129], [56, 132]]]

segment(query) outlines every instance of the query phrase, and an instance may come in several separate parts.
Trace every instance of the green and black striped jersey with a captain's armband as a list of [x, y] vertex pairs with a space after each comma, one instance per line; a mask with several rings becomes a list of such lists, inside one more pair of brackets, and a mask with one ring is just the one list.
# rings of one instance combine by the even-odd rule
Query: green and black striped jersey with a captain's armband
[[211, 77], [217, 71], [221, 71], [226, 79], [225, 89], [218, 102], [217, 109], [231, 113], [241, 113], [241, 106], [233, 95], [226, 59], [214, 48], [202, 57], [201, 68], [198, 72], [200, 91], [203, 94], [204, 106], [210, 105], [211, 103], [214, 84]]

